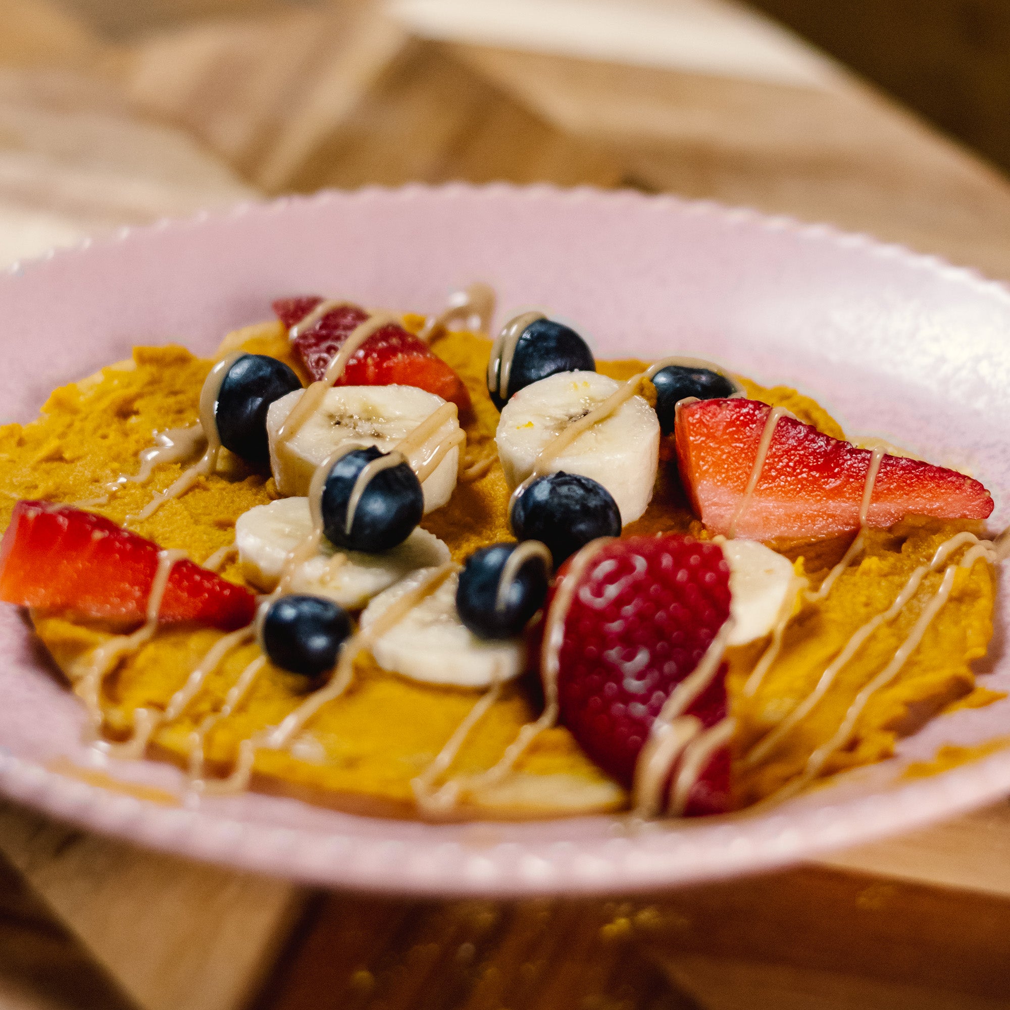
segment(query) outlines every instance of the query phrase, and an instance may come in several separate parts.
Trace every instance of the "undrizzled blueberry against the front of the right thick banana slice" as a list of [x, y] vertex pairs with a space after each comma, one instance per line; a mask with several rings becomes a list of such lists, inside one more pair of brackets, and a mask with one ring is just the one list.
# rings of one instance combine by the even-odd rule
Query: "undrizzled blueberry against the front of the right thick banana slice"
[[519, 495], [510, 516], [520, 540], [541, 540], [558, 568], [598, 536], [620, 536], [621, 513], [602, 484], [558, 471], [538, 477]]

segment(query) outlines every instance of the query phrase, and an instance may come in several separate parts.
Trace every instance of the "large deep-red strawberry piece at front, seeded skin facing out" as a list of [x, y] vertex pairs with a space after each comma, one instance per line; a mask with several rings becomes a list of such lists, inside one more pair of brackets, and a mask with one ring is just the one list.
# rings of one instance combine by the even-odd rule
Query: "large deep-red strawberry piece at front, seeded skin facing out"
[[[548, 607], [572, 561], [559, 572]], [[583, 749], [624, 786], [670, 693], [698, 666], [729, 616], [729, 566], [721, 548], [691, 536], [613, 540], [582, 574], [559, 654], [562, 721]], [[726, 716], [726, 666], [684, 715], [705, 727]], [[725, 748], [722, 748], [723, 750]], [[688, 813], [728, 809], [728, 755], [716, 751], [692, 790]]]

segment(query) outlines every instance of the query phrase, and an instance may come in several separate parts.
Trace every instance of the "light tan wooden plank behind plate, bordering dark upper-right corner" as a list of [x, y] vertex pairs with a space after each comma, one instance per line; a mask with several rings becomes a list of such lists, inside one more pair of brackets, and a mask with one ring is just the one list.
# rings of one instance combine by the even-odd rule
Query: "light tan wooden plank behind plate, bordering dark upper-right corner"
[[853, 79], [794, 87], [537, 53], [453, 53], [643, 187], [826, 220], [1010, 278], [1010, 185]]

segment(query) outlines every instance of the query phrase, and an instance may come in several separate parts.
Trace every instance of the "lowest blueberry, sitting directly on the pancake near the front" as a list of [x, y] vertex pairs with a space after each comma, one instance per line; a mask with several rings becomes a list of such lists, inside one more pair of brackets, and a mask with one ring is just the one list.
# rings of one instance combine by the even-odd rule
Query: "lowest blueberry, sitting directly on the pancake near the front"
[[346, 612], [319, 596], [282, 596], [260, 625], [260, 644], [270, 662], [306, 677], [331, 670], [349, 635]]

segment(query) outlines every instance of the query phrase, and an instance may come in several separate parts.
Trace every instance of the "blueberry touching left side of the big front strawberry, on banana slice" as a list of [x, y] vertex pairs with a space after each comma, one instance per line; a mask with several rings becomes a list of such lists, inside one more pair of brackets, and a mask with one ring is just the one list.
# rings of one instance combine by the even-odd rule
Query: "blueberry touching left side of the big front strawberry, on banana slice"
[[518, 546], [494, 543], [475, 550], [460, 573], [456, 609], [463, 623], [481, 638], [514, 638], [543, 606], [549, 563], [534, 553], [519, 564], [498, 607], [505, 564]]

